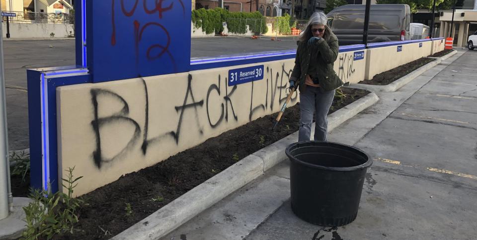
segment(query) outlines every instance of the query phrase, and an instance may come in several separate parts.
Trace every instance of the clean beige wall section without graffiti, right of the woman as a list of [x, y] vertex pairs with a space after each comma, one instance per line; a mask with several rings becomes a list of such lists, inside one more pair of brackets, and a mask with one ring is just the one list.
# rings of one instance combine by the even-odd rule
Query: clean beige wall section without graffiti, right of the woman
[[419, 43], [398, 46], [402, 46], [402, 51], [397, 52], [397, 46], [368, 49], [366, 80], [373, 79], [375, 75], [394, 69], [397, 66], [429, 56], [432, 43], [430, 41], [422, 42], [422, 47], [419, 47]]

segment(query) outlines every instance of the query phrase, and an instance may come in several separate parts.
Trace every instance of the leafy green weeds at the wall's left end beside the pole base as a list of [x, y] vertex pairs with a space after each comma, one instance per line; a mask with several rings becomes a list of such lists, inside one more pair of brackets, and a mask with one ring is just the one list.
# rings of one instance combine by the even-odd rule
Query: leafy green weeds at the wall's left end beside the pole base
[[[75, 167], [67, 170], [68, 177], [62, 178], [62, 185], [68, 189], [68, 194], [52, 193], [50, 190], [32, 190], [30, 198], [34, 201], [23, 207], [25, 211], [26, 230], [24, 239], [52, 239], [56, 234], [70, 232], [73, 234], [74, 225], [78, 223], [78, 212], [86, 206], [83, 198], [73, 198], [76, 183], [82, 176], [74, 178]], [[51, 189], [51, 185], [48, 185]]]

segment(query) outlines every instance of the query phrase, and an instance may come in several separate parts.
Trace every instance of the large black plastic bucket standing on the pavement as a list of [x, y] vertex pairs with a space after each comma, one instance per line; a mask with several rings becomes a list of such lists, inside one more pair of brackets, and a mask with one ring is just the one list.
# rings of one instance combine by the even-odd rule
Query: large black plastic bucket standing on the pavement
[[320, 226], [342, 226], [358, 214], [366, 170], [373, 160], [338, 143], [308, 141], [286, 149], [291, 204], [301, 219]]

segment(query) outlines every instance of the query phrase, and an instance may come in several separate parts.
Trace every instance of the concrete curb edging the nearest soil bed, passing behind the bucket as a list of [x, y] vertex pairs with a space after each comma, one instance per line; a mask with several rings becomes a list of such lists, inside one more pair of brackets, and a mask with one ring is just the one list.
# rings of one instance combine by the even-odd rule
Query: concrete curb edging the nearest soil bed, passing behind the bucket
[[[376, 93], [372, 92], [330, 114], [328, 130], [331, 131], [378, 100]], [[285, 160], [287, 157], [284, 149], [297, 139], [298, 131], [245, 157], [112, 239], [159, 239], [165, 236], [260, 176], [267, 169]]]

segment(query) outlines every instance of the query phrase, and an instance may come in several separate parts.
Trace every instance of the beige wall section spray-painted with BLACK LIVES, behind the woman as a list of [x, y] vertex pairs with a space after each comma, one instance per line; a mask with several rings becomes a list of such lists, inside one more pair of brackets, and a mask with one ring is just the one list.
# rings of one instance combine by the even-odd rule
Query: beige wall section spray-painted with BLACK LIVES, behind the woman
[[[263, 80], [228, 86], [229, 70], [259, 65], [264, 65]], [[345, 52], [339, 54], [335, 71], [343, 81], [358, 82], [364, 78], [365, 65], [366, 59], [353, 61], [353, 52]], [[75, 194], [81, 195], [278, 112], [287, 97], [293, 67], [294, 59], [288, 59], [192, 71], [190, 76], [181, 73], [58, 87], [59, 176], [65, 168], [76, 166], [75, 175], [84, 176], [75, 188]], [[230, 101], [224, 98], [227, 95]], [[297, 101], [294, 95], [289, 106]], [[98, 153], [101, 157], [95, 158]]]

